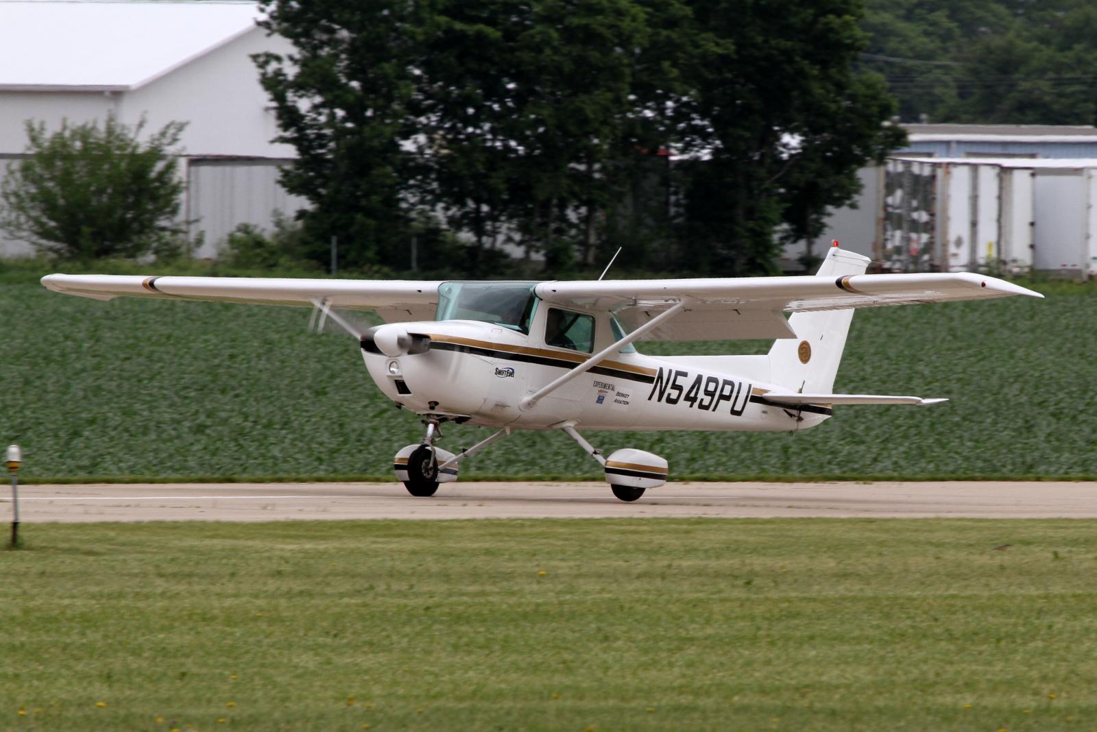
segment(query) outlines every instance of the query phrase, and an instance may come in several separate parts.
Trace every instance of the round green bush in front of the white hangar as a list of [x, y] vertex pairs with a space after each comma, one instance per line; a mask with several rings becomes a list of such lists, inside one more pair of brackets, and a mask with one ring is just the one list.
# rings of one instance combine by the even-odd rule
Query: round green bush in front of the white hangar
[[171, 122], [144, 140], [136, 126], [109, 115], [49, 133], [27, 122], [27, 157], [0, 186], [0, 228], [64, 258], [136, 256], [179, 235], [176, 149], [185, 123]]

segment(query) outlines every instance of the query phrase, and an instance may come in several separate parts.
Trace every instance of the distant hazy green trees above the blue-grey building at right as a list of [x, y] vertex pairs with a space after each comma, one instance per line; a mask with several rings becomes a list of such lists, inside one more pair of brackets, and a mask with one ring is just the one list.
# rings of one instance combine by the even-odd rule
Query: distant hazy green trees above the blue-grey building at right
[[1097, 123], [1092, 0], [868, 0], [861, 25], [903, 122]]

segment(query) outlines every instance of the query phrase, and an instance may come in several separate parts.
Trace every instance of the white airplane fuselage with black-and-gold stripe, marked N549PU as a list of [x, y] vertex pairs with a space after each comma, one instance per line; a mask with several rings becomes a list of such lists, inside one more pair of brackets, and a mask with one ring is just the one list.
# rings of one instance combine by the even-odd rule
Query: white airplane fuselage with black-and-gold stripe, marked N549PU
[[703, 362], [711, 358], [635, 352], [599, 363], [523, 410], [523, 397], [590, 354], [546, 345], [533, 335], [540, 332], [536, 321], [530, 334], [461, 320], [394, 327], [429, 338], [430, 346], [395, 357], [363, 348], [370, 376], [385, 396], [414, 412], [467, 418], [462, 421], [474, 425], [547, 430], [574, 421], [584, 430], [790, 432], [815, 426], [830, 413], [828, 405], [767, 403], [765, 394], [777, 386], [706, 367]]

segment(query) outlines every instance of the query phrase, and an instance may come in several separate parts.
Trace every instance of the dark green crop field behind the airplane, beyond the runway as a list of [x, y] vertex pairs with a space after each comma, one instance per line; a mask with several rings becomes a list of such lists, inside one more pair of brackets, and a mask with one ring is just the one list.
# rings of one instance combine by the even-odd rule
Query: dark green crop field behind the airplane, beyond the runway
[[[667, 457], [671, 476], [1037, 477], [1097, 472], [1097, 297], [861, 310], [836, 390], [950, 397], [845, 407], [799, 435], [591, 433]], [[1073, 294], [1078, 293], [1078, 294]], [[0, 439], [49, 478], [391, 476], [415, 415], [370, 381], [353, 340], [309, 312], [61, 296], [0, 285]], [[647, 353], [764, 352], [768, 343], [641, 343]], [[486, 436], [448, 427], [442, 447]], [[566, 436], [516, 434], [463, 474], [599, 478]]]

